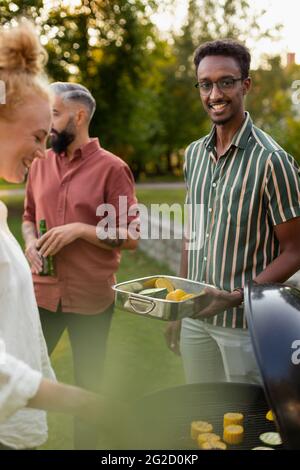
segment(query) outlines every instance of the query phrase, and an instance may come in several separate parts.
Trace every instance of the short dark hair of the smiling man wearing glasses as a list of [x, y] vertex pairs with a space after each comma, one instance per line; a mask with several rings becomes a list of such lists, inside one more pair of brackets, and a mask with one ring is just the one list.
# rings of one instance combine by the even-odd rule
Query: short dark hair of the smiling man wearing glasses
[[194, 55], [196, 74], [201, 60], [210, 55], [232, 57], [240, 66], [242, 78], [245, 79], [249, 76], [251, 55], [247, 47], [238, 41], [234, 41], [233, 39], [218, 39], [201, 44], [201, 46], [196, 49]]

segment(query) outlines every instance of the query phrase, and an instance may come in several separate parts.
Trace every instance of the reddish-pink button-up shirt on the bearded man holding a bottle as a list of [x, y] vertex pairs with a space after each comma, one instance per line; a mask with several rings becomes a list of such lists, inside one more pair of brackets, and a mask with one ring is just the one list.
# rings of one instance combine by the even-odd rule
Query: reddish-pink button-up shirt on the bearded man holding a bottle
[[[118, 214], [119, 196], [127, 196], [128, 207], [136, 204], [132, 173], [123, 160], [101, 148], [98, 139], [91, 139], [71, 161], [48, 150], [44, 160], [33, 162], [23, 220], [33, 222], [37, 231], [41, 219], [48, 230], [73, 222], [96, 227], [101, 220], [98, 206], [112, 204]], [[129, 224], [135, 217], [126, 212], [126, 218]], [[96, 314], [114, 301], [111, 285], [119, 249], [109, 251], [77, 239], [54, 258], [56, 277], [33, 275], [40, 307], [56, 311], [61, 302], [64, 312]]]

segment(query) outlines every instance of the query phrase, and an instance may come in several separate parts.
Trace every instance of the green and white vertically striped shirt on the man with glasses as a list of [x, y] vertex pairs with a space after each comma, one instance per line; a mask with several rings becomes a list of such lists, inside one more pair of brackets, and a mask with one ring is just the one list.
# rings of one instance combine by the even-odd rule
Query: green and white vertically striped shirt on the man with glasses
[[[184, 172], [189, 236], [198, 235], [188, 254], [188, 278], [227, 291], [243, 287], [279, 255], [274, 226], [300, 216], [297, 163], [246, 113], [219, 159], [215, 127], [191, 143]], [[240, 307], [206, 321], [247, 327]]]

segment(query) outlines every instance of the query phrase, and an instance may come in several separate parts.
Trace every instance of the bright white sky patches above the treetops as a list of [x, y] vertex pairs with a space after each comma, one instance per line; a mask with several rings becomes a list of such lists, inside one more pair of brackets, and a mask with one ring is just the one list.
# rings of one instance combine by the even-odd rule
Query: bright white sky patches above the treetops
[[[295, 52], [296, 62], [300, 64], [299, 0], [249, 0], [249, 3], [255, 11], [266, 10], [265, 16], [260, 19], [263, 27], [271, 27], [277, 23], [283, 25], [282, 39], [275, 43], [263, 41], [253, 46], [254, 55], [258, 57], [263, 52], [276, 53], [282, 54], [284, 60], [287, 52]], [[177, 0], [172, 12], [163, 11], [163, 4], [162, 0], [161, 12], [153, 15], [153, 21], [163, 32], [169, 31], [172, 27], [179, 29], [186, 17], [188, 0]]]

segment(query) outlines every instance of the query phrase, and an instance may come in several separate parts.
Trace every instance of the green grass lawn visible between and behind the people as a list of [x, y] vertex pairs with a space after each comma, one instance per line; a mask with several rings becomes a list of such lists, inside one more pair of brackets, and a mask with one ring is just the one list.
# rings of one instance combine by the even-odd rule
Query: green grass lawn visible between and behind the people
[[[169, 202], [172, 191], [160, 190], [162, 200]], [[152, 192], [143, 191], [144, 202], [156, 202]], [[146, 194], [149, 193], [149, 194]], [[174, 191], [175, 193], [175, 191]], [[180, 193], [180, 191], [176, 191]], [[157, 192], [153, 195], [157, 198]], [[174, 196], [175, 197], [175, 196]], [[178, 200], [183, 197], [177, 195]], [[181, 199], [182, 200], [182, 199]], [[20, 198], [5, 201], [9, 207], [8, 222], [21, 241]], [[143, 202], [143, 201], [142, 201]], [[118, 281], [167, 274], [170, 270], [146, 257], [141, 252], [124, 252]], [[108, 342], [103, 390], [111, 395], [121, 394], [125, 399], [139, 398], [155, 390], [184, 383], [180, 358], [171, 353], [164, 341], [165, 323], [115, 311]], [[52, 355], [52, 364], [59, 380], [73, 383], [72, 358], [65, 334]], [[108, 444], [107, 444], [108, 445]], [[105, 437], [101, 448], [106, 448]], [[111, 443], [108, 448], [111, 448]], [[72, 419], [61, 414], [49, 414], [49, 440], [42, 449], [72, 449]]]

